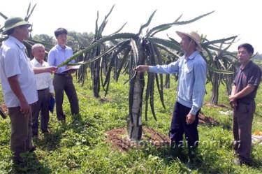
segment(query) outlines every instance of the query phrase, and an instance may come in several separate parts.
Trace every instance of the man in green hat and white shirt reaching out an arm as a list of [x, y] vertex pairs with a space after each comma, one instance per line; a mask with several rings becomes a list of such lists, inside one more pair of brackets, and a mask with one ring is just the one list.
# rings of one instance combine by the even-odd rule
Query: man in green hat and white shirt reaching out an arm
[[14, 161], [22, 162], [20, 154], [34, 150], [31, 141], [31, 104], [38, 100], [34, 73], [56, 71], [55, 67], [31, 68], [22, 43], [29, 37], [31, 24], [21, 17], [10, 17], [2, 34], [8, 39], [0, 49], [0, 76], [2, 92], [11, 120], [10, 149]]

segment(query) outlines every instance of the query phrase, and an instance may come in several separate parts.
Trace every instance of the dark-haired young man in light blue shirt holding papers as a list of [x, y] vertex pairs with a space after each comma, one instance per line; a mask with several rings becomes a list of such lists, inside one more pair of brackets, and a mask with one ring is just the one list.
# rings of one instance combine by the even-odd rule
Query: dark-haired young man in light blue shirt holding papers
[[[59, 66], [73, 55], [72, 48], [66, 46], [67, 31], [64, 28], [59, 28], [54, 31], [54, 36], [57, 38], [57, 45], [55, 45], [48, 53], [48, 64], [50, 66]], [[73, 71], [66, 71], [69, 66], [62, 66], [54, 73], [54, 92], [56, 99], [57, 119], [65, 122], [66, 115], [63, 112], [64, 91], [68, 97], [72, 115], [79, 113], [78, 95], [73, 85], [73, 78], [71, 73]]]

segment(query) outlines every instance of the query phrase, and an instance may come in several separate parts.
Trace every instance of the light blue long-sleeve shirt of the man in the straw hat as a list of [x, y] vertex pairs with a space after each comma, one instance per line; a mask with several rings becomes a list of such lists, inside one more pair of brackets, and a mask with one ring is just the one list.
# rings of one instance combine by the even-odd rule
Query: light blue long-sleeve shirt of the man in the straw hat
[[206, 63], [200, 52], [193, 52], [188, 58], [180, 57], [168, 65], [150, 66], [152, 73], [178, 73], [177, 102], [191, 108], [196, 115], [203, 105], [205, 96]]

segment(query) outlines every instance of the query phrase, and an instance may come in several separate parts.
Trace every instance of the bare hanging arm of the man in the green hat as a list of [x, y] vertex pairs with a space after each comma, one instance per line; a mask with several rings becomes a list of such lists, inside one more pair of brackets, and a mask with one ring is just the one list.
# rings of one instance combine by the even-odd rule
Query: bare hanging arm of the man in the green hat
[[27, 103], [27, 100], [24, 97], [24, 94], [22, 93], [22, 90], [20, 88], [20, 84], [17, 79], [17, 75], [14, 75], [10, 78], [8, 78], [9, 85], [15, 94], [17, 96], [17, 99], [20, 101], [20, 111], [22, 114], [27, 115], [29, 113], [29, 104]]

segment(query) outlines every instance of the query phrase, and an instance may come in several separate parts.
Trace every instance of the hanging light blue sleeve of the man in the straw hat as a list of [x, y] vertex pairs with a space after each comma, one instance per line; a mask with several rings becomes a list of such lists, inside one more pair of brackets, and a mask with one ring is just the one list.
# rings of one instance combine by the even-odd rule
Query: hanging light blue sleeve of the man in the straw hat
[[194, 67], [194, 87], [192, 96], [192, 108], [190, 113], [196, 115], [198, 110], [203, 105], [205, 96], [205, 80], [206, 80], [206, 64], [205, 62], [198, 62]]

